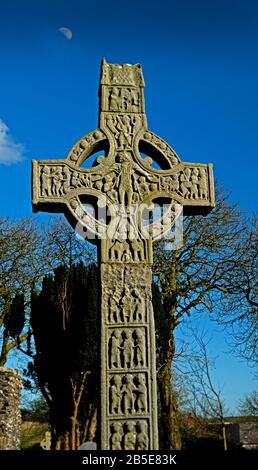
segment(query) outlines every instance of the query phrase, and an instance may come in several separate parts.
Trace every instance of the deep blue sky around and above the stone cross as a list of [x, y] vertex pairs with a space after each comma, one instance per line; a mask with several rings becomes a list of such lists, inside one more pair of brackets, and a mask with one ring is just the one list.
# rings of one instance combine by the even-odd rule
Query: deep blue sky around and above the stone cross
[[[60, 27], [72, 30], [71, 40]], [[0, 50], [1, 216], [31, 216], [32, 158], [63, 157], [97, 126], [103, 56], [142, 64], [149, 128], [182, 160], [213, 162], [232, 200], [256, 210], [256, 1], [9, 0], [1, 5]], [[223, 335], [214, 341], [233, 407], [255, 384], [223, 353]]]

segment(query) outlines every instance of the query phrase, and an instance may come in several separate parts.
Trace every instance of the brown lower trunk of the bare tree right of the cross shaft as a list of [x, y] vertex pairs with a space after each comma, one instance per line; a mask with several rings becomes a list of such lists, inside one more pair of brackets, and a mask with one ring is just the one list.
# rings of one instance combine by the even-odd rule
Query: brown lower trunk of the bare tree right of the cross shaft
[[181, 449], [179, 415], [176, 397], [172, 387], [172, 363], [175, 354], [173, 329], [170, 340], [164, 343], [160, 351], [160, 369], [158, 371], [158, 391], [160, 402], [159, 434], [161, 450]]

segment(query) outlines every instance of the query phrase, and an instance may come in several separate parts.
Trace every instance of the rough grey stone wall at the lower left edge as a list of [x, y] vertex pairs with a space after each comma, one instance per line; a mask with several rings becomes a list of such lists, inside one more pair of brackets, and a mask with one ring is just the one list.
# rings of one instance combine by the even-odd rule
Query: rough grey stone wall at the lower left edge
[[0, 367], [0, 450], [19, 450], [22, 379], [16, 369]]

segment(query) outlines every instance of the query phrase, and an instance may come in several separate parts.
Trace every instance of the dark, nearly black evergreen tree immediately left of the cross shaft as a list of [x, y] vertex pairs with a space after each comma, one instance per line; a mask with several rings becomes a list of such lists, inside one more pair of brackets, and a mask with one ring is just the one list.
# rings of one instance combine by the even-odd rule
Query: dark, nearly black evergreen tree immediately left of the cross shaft
[[76, 449], [96, 428], [96, 266], [59, 266], [31, 304], [34, 376], [50, 407], [52, 445]]

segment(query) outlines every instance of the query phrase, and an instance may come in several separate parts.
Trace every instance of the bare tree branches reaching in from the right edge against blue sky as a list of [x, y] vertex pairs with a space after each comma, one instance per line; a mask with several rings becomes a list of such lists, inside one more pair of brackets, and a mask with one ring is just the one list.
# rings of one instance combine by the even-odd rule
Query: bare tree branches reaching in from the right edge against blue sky
[[258, 218], [243, 227], [239, 246], [241, 260], [228, 273], [217, 321], [226, 327], [234, 354], [256, 367], [258, 359]]

